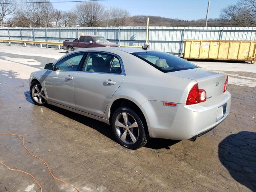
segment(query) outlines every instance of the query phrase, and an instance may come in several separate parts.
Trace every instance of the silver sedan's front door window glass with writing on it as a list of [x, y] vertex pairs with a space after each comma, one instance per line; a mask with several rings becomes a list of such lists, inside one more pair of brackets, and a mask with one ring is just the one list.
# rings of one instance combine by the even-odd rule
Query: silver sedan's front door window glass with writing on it
[[72, 54], [55, 65], [56, 71], [76, 71], [84, 53]]

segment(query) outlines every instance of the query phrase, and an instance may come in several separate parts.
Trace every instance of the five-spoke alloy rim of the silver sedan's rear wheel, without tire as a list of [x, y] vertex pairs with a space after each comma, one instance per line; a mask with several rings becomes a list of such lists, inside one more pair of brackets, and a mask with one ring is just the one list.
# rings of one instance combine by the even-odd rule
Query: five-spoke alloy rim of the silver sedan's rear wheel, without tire
[[116, 134], [126, 144], [134, 144], [138, 140], [139, 129], [134, 117], [126, 112], [118, 114], [115, 121]]

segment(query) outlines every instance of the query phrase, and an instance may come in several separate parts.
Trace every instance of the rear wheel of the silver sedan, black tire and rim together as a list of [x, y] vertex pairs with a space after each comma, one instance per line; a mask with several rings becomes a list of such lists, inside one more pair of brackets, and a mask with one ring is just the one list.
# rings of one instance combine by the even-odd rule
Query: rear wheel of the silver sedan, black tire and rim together
[[149, 138], [141, 118], [128, 107], [120, 107], [114, 112], [112, 130], [118, 143], [129, 149], [143, 147]]

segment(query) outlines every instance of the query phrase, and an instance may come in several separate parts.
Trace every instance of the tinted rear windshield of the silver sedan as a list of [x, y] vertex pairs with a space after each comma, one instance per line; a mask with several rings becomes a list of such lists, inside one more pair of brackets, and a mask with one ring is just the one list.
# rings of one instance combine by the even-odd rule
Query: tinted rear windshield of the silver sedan
[[132, 55], [146, 61], [162, 72], [180, 71], [186, 69], [198, 68], [198, 66], [174, 56], [169, 53], [148, 51], [148, 52], [135, 52]]

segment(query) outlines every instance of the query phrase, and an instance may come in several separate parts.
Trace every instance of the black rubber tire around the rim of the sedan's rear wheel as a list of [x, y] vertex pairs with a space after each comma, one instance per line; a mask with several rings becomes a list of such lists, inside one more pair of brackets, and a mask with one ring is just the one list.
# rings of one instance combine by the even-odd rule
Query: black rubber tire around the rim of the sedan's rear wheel
[[[118, 117], [120, 117], [120, 114], [123, 114], [123, 113], [126, 113], [126, 114], [128, 114], [128, 115], [130, 115], [132, 118], [133, 118], [133, 120], [135, 120], [136, 121], [136, 123], [137, 123], [137, 127], [136, 127], [136, 129], [138, 128], [138, 133], [137, 133], [137, 140], [136, 140], [136, 142], [134, 142], [133, 144], [128, 144], [128, 143], [126, 143], [126, 141], [125, 142], [123, 142], [121, 139], [120, 139], [120, 135], [122, 134], [122, 133], [124, 133], [124, 132], [126, 132], [126, 128], [122, 128], [122, 127], [118, 127], [118, 126], [116, 126], [116, 119], [118, 118]], [[130, 117], [130, 119], [131, 119], [131, 117]], [[130, 121], [129, 121], [130, 122]], [[129, 125], [129, 122], [128, 122], [128, 125]], [[124, 123], [125, 124], [125, 123]], [[131, 124], [130, 124], [131, 125]], [[116, 127], [118, 128], [118, 130], [116, 129]], [[119, 132], [119, 129], [123, 129], [124, 130], [124, 132], [122, 132], [122, 133], [120, 133], [120, 135], [118, 136], [118, 132]], [[129, 128], [129, 127], [128, 127]], [[126, 148], [129, 148], [129, 149], [138, 149], [138, 148], [141, 148], [141, 147], [143, 147], [144, 145], [146, 145], [146, 143], [148, 142], [148, 140], [149, 140], [149, 136], [148, 136], [148, 134], [146, 133], [146, 131], [145, 131], [145, 126], [144, 126], [144, 124], [143, 124], [143, 122], [142, 122], [142, 119], [138, 116], [138, 114], [136, 114], [136, 112], [134, 112], [134, 110], [132, 110], [132, 109], [130, 109], [130, 108], [128, 108], [128, 107], [120, 107], [120, 108], [118, 108], [115, 112], [114, 112], [114, 114], [113, 114], [113, 116], [112, 116], [112, 131], [113, 131], [113, 134], [114, 134], [114, 137], [116, 138], [116, 140], [117, 140], [117, 142], [120, 144], [120, 145], [122, 145], [122, 146], [124, 146], [124, 147], [126, 147]], [[130, 129], [130, 128], [129, 128]], [[131, 129], [130, 129], [131, 130]], [[134, 128], [134, 130], [133, 131], [135, 131], [135, 128]], [[128, 137], [128, 140], [129, 140], [129, 137], [130, 137], [130, 140], [132, 140], [131, 139], [131, 136], [130, 136], [130, 134], [128, 134], [128, 133], [130, 133], [128, 130], [127, 130], [127, 137]], [[134, 133], [134, 132], [133, 132]], [[132, 142], [132, 141], [131, 141]]]

